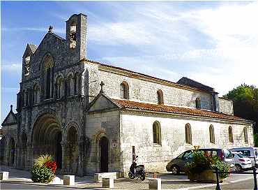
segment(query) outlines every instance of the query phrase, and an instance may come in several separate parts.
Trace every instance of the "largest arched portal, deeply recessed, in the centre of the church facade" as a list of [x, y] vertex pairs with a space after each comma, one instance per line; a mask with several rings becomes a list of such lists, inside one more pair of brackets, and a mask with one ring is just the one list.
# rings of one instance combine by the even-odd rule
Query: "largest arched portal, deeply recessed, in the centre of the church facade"
[[52, 114], [38, 117], [33, 126], [33, 158], [41, 154], [50, 154], [57, 167], [62, 168], [62, 133], [59, 121]]

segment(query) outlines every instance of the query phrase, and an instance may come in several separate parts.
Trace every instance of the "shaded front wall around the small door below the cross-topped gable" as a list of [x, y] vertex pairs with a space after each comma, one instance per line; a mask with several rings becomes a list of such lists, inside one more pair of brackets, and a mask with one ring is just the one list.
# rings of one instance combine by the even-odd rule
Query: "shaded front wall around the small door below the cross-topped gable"
[[119, 143], [119, 111], [89, 113], [86, 117], [85, 133], [91, 142], [87, 150], [86, 173], [100, 172], [100, 138], [109, 140], [109, 172], [121, 171]]

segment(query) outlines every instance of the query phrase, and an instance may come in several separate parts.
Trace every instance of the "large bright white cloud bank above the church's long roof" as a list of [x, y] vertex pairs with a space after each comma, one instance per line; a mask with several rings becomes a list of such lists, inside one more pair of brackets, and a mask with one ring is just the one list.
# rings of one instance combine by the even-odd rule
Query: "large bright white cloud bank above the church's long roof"
[[[215, 87], [221, 95], [243, 82], [258, 86], [257, 2], [222, 3], [216, 8], [187, 11], [173, 10], [173, 6], [146, 6], [139, 12], [142, 17], [137, 11], [130, 10], [135, 13], [130, 22], [100, 29], [103, 33], [98, 38], [104, 43], [144, 45], [139, 49], [150, 50], [146, 53], [149, 55], [104, 59], [173, 81], [186, 75]], [[107, 36], [109, 30], [111, 36]], [[191, 36], [192, 30], [202, 35]], [[202, 36], [208, 40], [202, 41]], [[202, 44], [209, 42], [213, 45]], [[185, 71], [180, 73], [179, 67]]]

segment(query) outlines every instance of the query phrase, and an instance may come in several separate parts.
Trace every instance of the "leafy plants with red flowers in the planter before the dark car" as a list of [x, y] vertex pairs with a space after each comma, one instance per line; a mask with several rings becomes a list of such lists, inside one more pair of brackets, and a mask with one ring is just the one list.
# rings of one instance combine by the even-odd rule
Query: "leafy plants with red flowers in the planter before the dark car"
[[[220, 160], [218, 156], [209, 156], [203, 151], [195, 151], [192, 156], [192, 163], [185, 164], [186, 174], [202, 173], [204, 170], [215, 170], [218, 168], [220, 172], [228, 172], [229, 165]], [[222, 179], [228, 176], [227, 173], [221, 173]]]

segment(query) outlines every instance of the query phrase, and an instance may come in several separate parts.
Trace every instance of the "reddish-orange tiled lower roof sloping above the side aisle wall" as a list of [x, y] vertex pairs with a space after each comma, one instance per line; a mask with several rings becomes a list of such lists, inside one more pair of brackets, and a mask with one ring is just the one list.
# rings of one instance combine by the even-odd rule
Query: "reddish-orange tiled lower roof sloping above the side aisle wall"
[[191, 116], [199, 116], [199, 117], [211, 117], [217, 119], [229, 119], [229, 120], [236, 120], [236, 121], [245, 121], [245, 122], [252, 122], [247, 119], [243, 119], [241, 117], [236, 117], [234, 115], [227, 115], [221, 112], [211, 112], [208, 110], [198, 110], [193, 108], [181, 108], [176, 106], [169, 106], [169, 105], [157, 105], [151, 103], [141, 103], [135, 101], [127, 101], [121, 99], [112, 99], [114, 103], [117, 103], [122, 108], [128, 108], [133, 110], [148, 110], [153, 112], [166, 112], [166, 113], [174, 113], [180, 115], [191, 115]]

